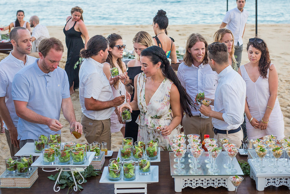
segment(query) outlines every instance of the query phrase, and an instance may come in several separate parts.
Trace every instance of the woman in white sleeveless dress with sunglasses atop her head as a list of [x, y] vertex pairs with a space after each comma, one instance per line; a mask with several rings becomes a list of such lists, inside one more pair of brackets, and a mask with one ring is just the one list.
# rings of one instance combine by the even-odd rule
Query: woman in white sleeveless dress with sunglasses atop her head
[[251, 38], [247, 44], [249, 61], [238, 73], [246, 82], [246, 126], [249, 139], [273, 134], [284, 138], [284, 120], [277, 98], [278, 74], [271, 63], [264, 40]]

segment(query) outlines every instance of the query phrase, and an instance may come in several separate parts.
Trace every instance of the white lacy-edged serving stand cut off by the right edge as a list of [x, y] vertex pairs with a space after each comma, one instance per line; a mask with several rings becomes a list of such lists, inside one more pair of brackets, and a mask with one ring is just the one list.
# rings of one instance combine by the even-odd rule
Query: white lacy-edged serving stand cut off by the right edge
[[280, 165], [278, 168], [283, 170], [282, 173], [273, 173], [271, 170], [274, 168], [268, 166], [270, 162], [265, 162], [263, 159], [263, 165], [266, 166], [263, 169], [267, 170], [267, 172], [257, 173], [256, 170], [258, 168], [255, 167], [255, 164], [258, 164], [258, 162], [252, 162], [252, 160], [253, 159], [248, 159], [248, 163], [251, 168], [250, 177], [256, 181], [256, 189], [258, 191], [264, 191], [264, 189], [270, 185], [275, 187], [285, 185], [290, 189], [290, 173], [285, 171], [285, 169], [288, 169], [289, 167], [282, 166], [282, 164], [285, 164], [285, 162], [278, 161], [278, 165]]

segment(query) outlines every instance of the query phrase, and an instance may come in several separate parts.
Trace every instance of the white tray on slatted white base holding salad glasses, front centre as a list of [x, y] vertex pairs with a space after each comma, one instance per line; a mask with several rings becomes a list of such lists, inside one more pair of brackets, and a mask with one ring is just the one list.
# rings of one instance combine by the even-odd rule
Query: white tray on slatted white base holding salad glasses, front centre
[[[132, 181], [124, 181], [121, 174], [121, 180], [110, 181], [108, 179], [108, 166], [104, 167], [100, 183], [114, 184], [115, 194], [117, 193], [144, 193], [147, 194], [147, 184], [157, 183], [159, 181], [158, 166], [150, 166], [149, 175], [139, 175], [139, 167], [135, 167], [136, 178]], [[123, 167], [122, 169], [123, 170]]]

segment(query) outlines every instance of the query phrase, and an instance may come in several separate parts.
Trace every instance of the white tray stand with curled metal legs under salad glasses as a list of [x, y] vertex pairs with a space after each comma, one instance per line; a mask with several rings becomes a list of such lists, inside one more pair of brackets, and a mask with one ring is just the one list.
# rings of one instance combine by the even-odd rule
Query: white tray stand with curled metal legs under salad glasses
[[[78, 164], [78, 165], [67, 164], [67, 165], [62, 165], [62, 164], [58, 164], [58, 161], [56, 161], [56, 164], [54, 164], [54, 165], [45, 165], [45, 164], [43, 164], [43, 156], [40, 155], [38, 157], [38, 159], [36, 159], [31, 164], [31, 166], [40, 167], [45, 172], [54, 172], [54, 171], [60, 170], [60, 173], [58, 174], [58, 177], [57, 177], [57, 179], [55, 181], [55, 184], [53, 186], [53, 191], [54, 192], [59, 192], [60, 191], [60, 187], [56, 187], [56, 183], [59, 183], [60, 174], [63, 171], [71, 171], [72, 177], [74, 179], [74, 191], [78, 191], [77, 182], [75, 181], [75, 178], [74, 178], [74, 171], [77, 171], [81, 175], [82, 181], [81, 180], [78, 181], [78, 184], [82, 184], [85, 181], [85, 178], [82, 176], [82, 174], [80, 173], [80, 171], [85, 170], [87, 168], [87, 166], [90, 165], [90, 163], [92, 162], [94, 156], [95, 156], [95, 152], [88, 151], [87, 152], [87, 159], [85, 160], [85, 163], [84, 164]], [[44, 168], [55, 168], [55, 169], [54, 170], [44, 170]], [[57, 188], [57, 190], [56, 190], [56, 188]]]

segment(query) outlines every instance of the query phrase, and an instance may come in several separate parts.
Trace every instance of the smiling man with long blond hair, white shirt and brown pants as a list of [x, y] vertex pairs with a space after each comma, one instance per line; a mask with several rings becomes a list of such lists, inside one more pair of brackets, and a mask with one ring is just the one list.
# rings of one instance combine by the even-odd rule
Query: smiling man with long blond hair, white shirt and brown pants
[[[208, 64], [207, 46], [205, 38], [198, 34], [191, 34], [186, 43], [186, 53], [183, 62], [179, 65], [177, 76], [191, 99], [199, 92], [205, 92], [205, 97], [214, 99], [218, 84], [217, 73], [212, 71]], [[213, 109], [213, 106], [211, 106]], [[192, 117], [187, 114], [183, 117], [184, 133], [198, 134], [201, 141], [204, 135], [214, 136], [212, 118], [201, 118], [198, 109], [191, 108]]]

